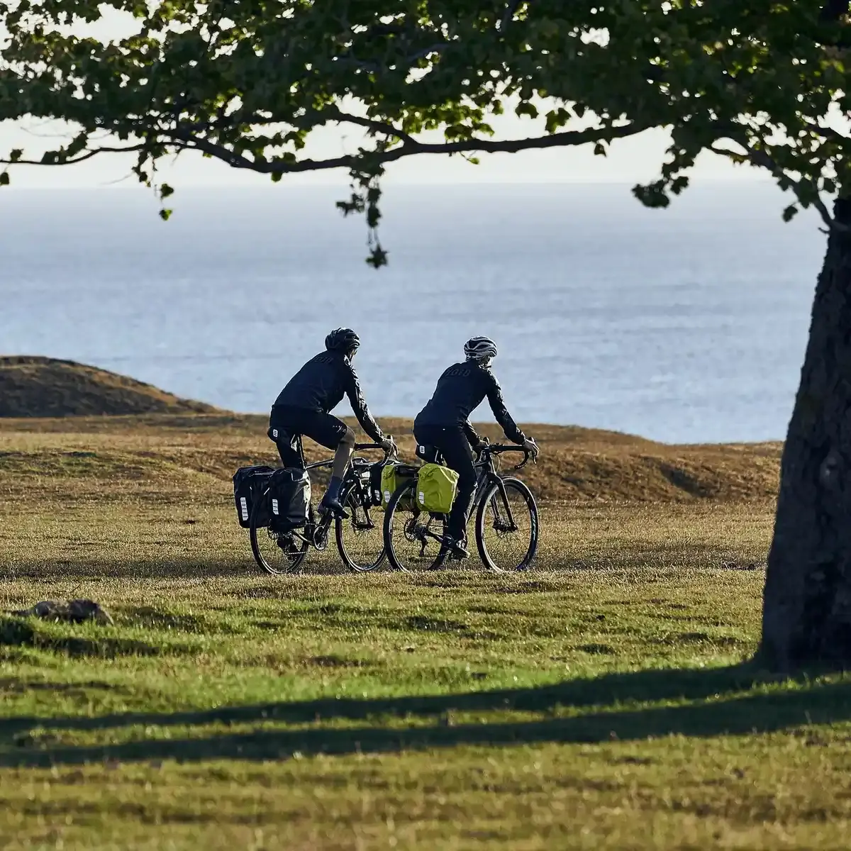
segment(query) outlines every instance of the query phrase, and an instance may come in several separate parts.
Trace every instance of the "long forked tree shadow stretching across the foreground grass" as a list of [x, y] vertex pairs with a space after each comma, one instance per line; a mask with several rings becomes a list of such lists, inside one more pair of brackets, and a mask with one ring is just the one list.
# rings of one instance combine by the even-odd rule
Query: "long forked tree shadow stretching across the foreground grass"
[[[851, 682], [787, 683], [754, 690], [755, 669], [736, 665], [710, 670], [654, 670], [611, 674], [539, 688], [377, 700], [311, 700], [170, 714], [126, 713], [108, 717], [16, 718], [0, 722], [0, 766], [26, 767], [118, 760], [281, 759], [310, 755], [391, 753], [458, 745], [523, 745], [643, 740], [681, 734], [710, 737], [769, 733], [813, 723], [851, 720]], [[674, 701], [636, 709], [603, 708], [624, 701]], [[677, 702], [682, 701], [682, 702]], [[691, 701], [691, 702], [688, 702]], [[591, 711], [529, 721], [455, 723], [454, 712]], [[405, 727], [405, 719], [419, 726]], [[422, 720], [431, 718], [430, 725]], [[212, 723], [320, 721], [369, 722], [349, 728], [270, 729], [124, 744], [68, 746], [51, 731]], [[402, 722], [402, 723], [400, 723]], [[391, 726], [395, 724], [396, 726]], [[35, 738], [29, 734], [39, 729]]]

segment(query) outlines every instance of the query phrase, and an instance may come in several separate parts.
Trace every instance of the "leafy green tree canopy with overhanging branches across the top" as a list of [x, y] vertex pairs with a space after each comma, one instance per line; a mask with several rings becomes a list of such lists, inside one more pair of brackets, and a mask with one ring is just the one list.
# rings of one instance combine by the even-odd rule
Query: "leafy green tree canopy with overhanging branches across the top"
[[[133, 35], [85, 34], [116, 10], [134, 17]], [[837, 227], [822, 196], [851, 190], [847, 14], [838, 0], [0, 2], [0, 121], [59, 119], [75, 134], [43, 157], [9, 151], [0, 185], [18, 163], [117, 151], [135, 154], [163, 200], [172, 189], [157, 163], [186, 151], [271, 180], [346, 168], [339, 206], [365, 214], [368, 262], [381, 266], [388, 163], [583, 144], [604, 155], [612, 140], [667, 127], [659, 180], [635, 189], [648, 206], [683, 191], [710, 150], [793, 191], [787, 219], [815, 205]], [[540, 134], [494, 138], [507, 108]], [[362, 145], [306, 156], [329, 123], [359, 129]]]

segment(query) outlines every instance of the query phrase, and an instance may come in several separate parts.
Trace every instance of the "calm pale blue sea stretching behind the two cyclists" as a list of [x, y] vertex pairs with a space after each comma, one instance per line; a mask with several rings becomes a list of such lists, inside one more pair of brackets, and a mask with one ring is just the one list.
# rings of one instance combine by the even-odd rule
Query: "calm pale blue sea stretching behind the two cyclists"
[[0, 351], [262, 412], [349, 325], [374, 413], [410, 416], [488, 334], [519, 420], [784, 437], [825, 237], [784, 225], [772, 186], [705, 184], [664, 212], [616, 185], [396, 186], [378, 272], [345, 194], [179, 190], [165, 224], [140, 191], [4, 190]]

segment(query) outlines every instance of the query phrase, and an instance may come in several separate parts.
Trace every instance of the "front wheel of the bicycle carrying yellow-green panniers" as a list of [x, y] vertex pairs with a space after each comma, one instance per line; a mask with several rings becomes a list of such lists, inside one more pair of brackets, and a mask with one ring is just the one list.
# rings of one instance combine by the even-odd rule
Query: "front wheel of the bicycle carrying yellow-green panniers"
[[494, 482], [476, 513], [482, 563], [498, 574], [528, 570], [538, 551], [538, 528], [532, 491], [516, 478]]

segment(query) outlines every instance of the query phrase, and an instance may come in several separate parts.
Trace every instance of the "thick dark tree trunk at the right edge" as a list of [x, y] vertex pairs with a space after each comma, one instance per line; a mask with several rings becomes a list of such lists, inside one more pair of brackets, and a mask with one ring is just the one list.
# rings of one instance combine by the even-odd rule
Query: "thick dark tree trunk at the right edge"
[[[837, 201], [851, 225], [851, 202]], [[851, 237], [827, 244], [780, 467], [762, 660], [851, 667]]]

